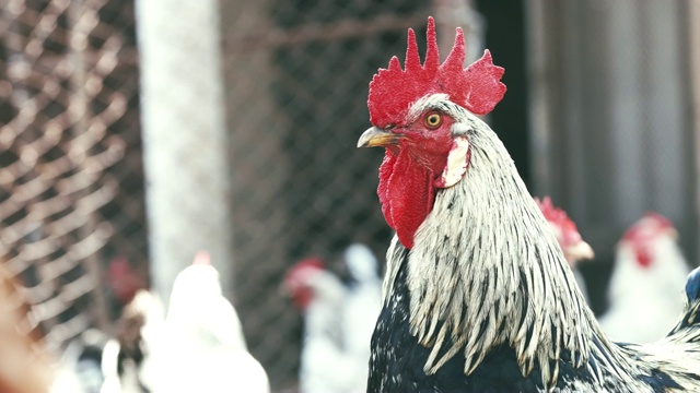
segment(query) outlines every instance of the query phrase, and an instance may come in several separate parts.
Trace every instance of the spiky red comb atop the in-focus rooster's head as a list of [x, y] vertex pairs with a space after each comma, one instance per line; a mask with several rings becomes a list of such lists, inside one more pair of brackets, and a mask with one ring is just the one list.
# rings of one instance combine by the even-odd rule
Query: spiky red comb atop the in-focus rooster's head
[[501, 83], [504, 70], [493, 66], [491, 52], [464, 68], [466, 46], [464, 33], [457, 27], [452, 51], [440, 63], [435, 21], [428, 17], [428, 50], [421, 66], [416, 33], [408, 29], [408, 48], [404, 70], [395, 56], [388, 69], [380, 69], [370, 82], [368, 107], [370, 121], [385, 128], [404, 119], [408, 108], [427, 94], [444, 93], [450, 99], [476, 115], [486, 115], [503, 98], [505, 85]]

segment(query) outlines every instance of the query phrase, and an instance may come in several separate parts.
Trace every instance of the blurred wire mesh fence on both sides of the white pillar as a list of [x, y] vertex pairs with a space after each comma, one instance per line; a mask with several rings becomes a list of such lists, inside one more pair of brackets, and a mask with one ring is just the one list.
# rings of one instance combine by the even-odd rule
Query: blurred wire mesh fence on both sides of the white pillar
[[[60, 346], [88, 326], [112, 331], [110, 261], [148, 275], [135, 7], [2, 5], [0, 257], [26, 289], [34, 327]], [[234, 299], [273, 389], [293, 389], [302, 322], [281, 278], [295, 260], [334, 260], [351, 242], [384, 252], [382, 153], [354, 145], [368, 126], [368, 82], [429, 10], [406, 0], [220, 8]], [[173, 99], [175, 121], [197, 94]], [[195, 146], [183, 154], [207, 159]]]

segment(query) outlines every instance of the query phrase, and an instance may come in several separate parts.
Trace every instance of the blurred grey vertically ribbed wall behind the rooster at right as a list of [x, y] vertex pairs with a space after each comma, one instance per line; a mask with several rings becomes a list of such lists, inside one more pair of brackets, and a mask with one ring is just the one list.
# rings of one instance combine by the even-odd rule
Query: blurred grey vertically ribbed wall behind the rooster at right
[[596, 311], [615, 242], [645, 211], [670, 218], [695, 265], [688, 1], [530, 0], [534, 190], [579, 225]]

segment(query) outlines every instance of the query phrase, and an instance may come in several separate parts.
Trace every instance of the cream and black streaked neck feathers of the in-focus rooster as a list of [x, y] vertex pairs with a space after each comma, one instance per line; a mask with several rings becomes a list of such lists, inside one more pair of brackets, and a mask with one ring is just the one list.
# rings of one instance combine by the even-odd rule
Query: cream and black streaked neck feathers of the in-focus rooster
[[428, 374], [459, 353], [469, 374], [505, 344], [523, 376], [537, 367], [550, 383], [556, 359], [586, 362], [598, 327], [510, 155], [485, 128], [469, 135], [471, 166], [459, 183], [438, 192], [408, 258], [399, 258], [400, 242], [389, 248], [385, 301], [406, 263], [409, 329], [432, 348]]

